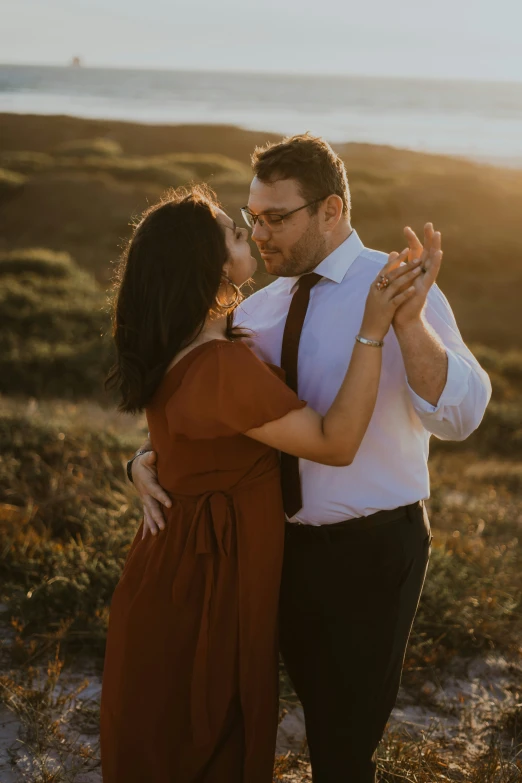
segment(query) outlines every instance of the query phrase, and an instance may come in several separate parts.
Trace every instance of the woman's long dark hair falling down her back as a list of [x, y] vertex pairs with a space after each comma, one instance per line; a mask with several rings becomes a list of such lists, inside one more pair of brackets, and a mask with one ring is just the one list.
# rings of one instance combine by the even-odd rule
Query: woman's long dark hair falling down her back
[[171, 191], [143, 213], [123, 252], [112, 308], [117, 359], [105, 381], [118, 391], [121, 411], [146, 407], [210, 313], [226, 312], [227, 336], [240, 336], [232, 312], [218, 301], [227, 260], [218, 208], [206, 186]]

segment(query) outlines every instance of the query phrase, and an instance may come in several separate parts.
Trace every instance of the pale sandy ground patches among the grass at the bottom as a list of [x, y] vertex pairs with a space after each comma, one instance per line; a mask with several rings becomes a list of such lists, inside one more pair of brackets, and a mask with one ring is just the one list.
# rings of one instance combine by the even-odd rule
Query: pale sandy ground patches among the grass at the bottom
[[[9, 643], [10, 629], [6, 623], [7, 607], [0, 605], [3, 618], [2, 640]], [[4, 671], [5, 656], [4, 656]], [[93, 749], [98, 756], [97, 706], [101, 679], [89, 670], [64, 671], [60, 688], [74, 691], [81, 682], [88, 685], [75, 701], [74, 709], [64, 721], [64, 731], [79, 745]], [[455, 658], [440, 679], [426, 680], [421, 691], [414, 694], [401, 688], [389, 728], [401, 729], [412, 738], [429, 737], [443, 741], [448, 751], [457, 757], [475, 757], [483, 752], [491, 737], [493, 726], [505, 709], [520, 700], [522, 689], [522, 661], [508, 661], [499, 655], [477, 656], [473, 659]], [[306, 747], [303, 711], [292, 707], [279, 726], [277, 754], [302, 753]], [[54, 764], [51, 753], [46, 760], [48, 768]], [[75, 764], [70, 759], [70, 764]], [[90, 762], [87, 771], [71, 772], [64, 778], [71, 783], [101, 783], [97, 762]], [[32, 781], [37, 766], [24, 744], [24, 731], [18, 718], [5, 706], [0, 706], [0, 783]], [[305, 760], [286, 781], [310, 780], [309, 765]]]

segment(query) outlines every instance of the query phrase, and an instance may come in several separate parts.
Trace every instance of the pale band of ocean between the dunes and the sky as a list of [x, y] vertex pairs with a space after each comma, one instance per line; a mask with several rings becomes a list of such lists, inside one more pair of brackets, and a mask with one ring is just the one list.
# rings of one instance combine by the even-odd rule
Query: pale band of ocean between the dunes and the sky
[[522, 83], [0, 65], [0, 111], [309, 130], [522, 168]]

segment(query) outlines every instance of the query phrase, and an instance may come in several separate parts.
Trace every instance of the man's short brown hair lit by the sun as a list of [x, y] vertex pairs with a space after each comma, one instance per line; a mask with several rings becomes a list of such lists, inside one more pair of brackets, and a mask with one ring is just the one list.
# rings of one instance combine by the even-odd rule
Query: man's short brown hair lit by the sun
[[[328, 142], [304, 133], [276, 144], [256, 147], [252, 169], [261, 182], [295, 179], [307, 202], [335, 194], [343, 201], [343, 215], [350, 217], [350, 188], [346, 168]], [[317, 205], [310, 208], [312, 214]]]

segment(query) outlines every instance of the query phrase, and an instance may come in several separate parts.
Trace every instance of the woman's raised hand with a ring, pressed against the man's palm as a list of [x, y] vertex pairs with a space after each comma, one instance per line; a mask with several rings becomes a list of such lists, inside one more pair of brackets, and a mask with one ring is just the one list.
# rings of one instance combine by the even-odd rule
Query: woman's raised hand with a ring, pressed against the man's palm
[[409, 248], [402, 253], [390, 253], [388, 262], [370, 286], [361, 336], [382, 340], [387, 334], [397, 309], [415, 294], [413, 283], [421, 274], [421, 259], [407, 263]]

